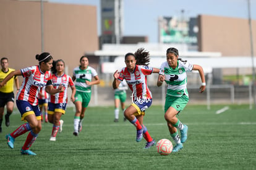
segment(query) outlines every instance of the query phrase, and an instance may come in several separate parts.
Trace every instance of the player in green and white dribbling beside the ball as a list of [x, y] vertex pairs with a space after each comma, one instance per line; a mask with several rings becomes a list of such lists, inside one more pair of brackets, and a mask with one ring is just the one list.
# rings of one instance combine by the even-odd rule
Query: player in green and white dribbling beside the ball
[[[160, 87], [165, 81], [168, 85], [165, 104], [164, 119], [167, 122], [171, 137], [176, 145], [173, 152], [177, 152], [183, 148], [184, 142], [187, 140], [188, 127], [176, 117], [189, 102], [189, 93], [187, 92], [187, 74], [197, 70], [202, 80], [200, 93], [205, 91], [205, 75], [201, 66], [190, 64], [187, 61], [179, 59], [179, 51], [176, 48], [168, 48], [166, 50], [166, 61], [161, 64], [158, 75], [157, 86]], [[181, 138], [177, 129], [181, 132]]]

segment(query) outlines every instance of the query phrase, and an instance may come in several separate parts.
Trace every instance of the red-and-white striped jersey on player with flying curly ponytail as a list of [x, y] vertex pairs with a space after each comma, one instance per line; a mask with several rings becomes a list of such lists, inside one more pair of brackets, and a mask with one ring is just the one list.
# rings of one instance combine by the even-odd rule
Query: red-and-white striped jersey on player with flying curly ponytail
[[147, 75], [152, 74], [152, 72], [153, 67], [150, 66], [136, 65], [134, 72], [129, 72], [127, 67], [123, 67], [118, 79], [121, 81], [126, 79], [130, 90], [132, 90], [133, 100], [137, 98], [151, 99], [152, 95], [147, 85]]

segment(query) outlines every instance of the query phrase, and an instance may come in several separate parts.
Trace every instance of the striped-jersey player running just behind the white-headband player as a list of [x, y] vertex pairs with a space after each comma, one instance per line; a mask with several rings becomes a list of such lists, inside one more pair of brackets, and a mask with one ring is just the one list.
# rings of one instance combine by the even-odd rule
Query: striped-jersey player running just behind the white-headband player
[[62, 132], [62, 125], [64, 123], [61, 120], [62, 114], [65, 114], [67, 106], [67, 88], [70, 87], [72, 94], [70, 100], [75, 101], [75, 85], [69, 75], [64, 73], [65, 63], [62, 59], [53, 62], [53, 67], [51, 68], [53, 87], [59, 88], [60, 85], [64, 87], [64, 91], [59, 92], [56, 95], [50, 95], [48, 103], [48, 120], [53, 124], [53, 130], [51, 132], [51, 137], [49, 140], [56, 141], [56, 135]]

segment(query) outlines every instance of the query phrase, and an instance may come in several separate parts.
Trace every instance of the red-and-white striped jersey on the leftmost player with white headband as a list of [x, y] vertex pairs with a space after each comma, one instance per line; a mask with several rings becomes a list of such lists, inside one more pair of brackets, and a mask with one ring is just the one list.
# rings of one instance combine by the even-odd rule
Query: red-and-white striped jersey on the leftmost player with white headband
[[51, 80], [51, 73], [49, 71], [41, 72], [39, 66], [27, 67], [20, 69], [20, 71], [24, 79], [16, 99], [28, 101], [32, 106], [36, 106], [40, 89], [45, 87], [46, 84], [51, 85], [51, 82], [48, 82], [48, 80]]

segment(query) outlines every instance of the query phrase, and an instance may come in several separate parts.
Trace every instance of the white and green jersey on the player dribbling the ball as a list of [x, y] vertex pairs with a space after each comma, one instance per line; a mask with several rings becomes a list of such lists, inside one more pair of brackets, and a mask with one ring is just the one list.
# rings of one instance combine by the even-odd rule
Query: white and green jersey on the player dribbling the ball
[[193, 69], [193, 64], [187, 61], [177, 61], [177, 67], [173, 69], [169, 66], [168, 62], [163, 62], [160, 68], [159, 74], [165, 76], [165, 82], [168, 85], [166, 95], [170, 96], [182, 96], [187, 95], [187, 74], [186, 72], [191, 72]]

